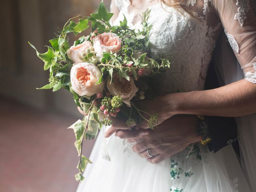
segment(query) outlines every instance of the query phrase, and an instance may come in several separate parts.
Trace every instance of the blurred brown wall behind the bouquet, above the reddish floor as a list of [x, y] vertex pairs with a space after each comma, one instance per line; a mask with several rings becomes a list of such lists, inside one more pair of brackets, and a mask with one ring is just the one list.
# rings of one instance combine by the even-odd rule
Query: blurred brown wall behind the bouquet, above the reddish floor
[[[46, 52], [48, 40], [69, 18], [78, 14], [88, 16], [99, 3], [100, 0], [1, 0], [0, 95], [39, 109], [77, 115], [67, 91], [35, 89], [47, 84], [48, 73], [43, 71], [43, 62], [28, 41], [39, 52]], [[109, 8], [110, 0], [104, 3]], [[73, 41], [74, 37], [70, 44]]]

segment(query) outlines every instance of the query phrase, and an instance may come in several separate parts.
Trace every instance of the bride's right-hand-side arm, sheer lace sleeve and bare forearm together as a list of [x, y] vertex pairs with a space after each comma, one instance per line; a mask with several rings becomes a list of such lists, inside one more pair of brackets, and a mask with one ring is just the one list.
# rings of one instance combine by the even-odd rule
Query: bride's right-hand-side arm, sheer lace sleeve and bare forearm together
[[170, 106], [175, 113], [208, 116], [256, 113], [256, 6], [250, 0], [237, 2], [212, 0], [210, 6], [222, 22], [245, 79], [213, 90], [174, 94]]

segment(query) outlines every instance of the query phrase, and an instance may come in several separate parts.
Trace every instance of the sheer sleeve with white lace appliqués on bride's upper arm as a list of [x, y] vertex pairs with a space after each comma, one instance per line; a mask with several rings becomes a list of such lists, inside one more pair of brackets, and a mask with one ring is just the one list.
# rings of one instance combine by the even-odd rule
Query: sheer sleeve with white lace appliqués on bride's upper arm
[[245, 79], [256, 83], [256, 10], [253, 0], [212, 0]]

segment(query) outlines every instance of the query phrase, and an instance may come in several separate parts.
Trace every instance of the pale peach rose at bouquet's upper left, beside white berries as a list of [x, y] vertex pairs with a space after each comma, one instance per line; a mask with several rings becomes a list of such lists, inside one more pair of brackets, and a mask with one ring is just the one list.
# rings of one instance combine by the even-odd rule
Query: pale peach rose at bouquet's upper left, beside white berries
[[71, 46], [67, 50], [68, 58], [75, 63], [82, 63], [84, 58], [82, 54], [86, 52], [86, 49], [91, 47], [92, 43], [90, 41], [84, 41], [82, 44], [77, 46]]

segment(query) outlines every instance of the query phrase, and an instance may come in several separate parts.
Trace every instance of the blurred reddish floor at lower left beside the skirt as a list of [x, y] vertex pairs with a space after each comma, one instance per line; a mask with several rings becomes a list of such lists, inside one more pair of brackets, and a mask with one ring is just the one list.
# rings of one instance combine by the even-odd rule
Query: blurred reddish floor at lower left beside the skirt
[[0, 99], [0, 192], [75, 192], [76, 120]]

